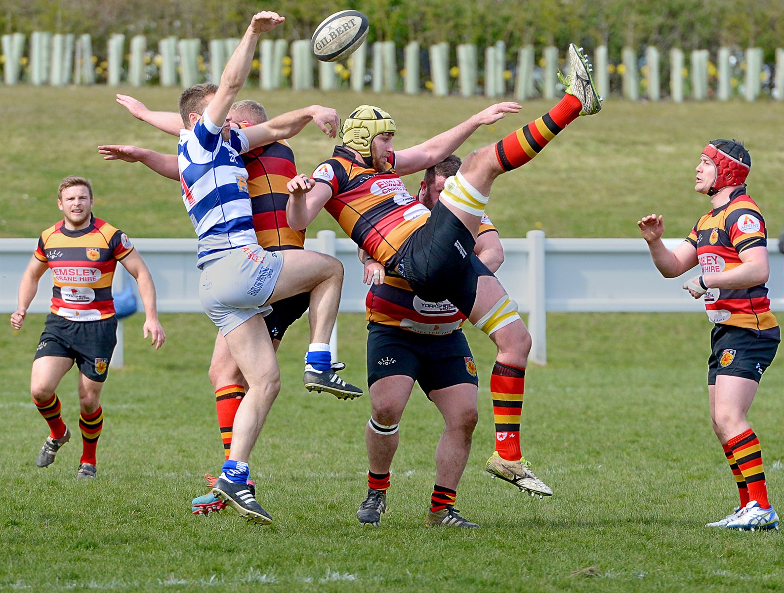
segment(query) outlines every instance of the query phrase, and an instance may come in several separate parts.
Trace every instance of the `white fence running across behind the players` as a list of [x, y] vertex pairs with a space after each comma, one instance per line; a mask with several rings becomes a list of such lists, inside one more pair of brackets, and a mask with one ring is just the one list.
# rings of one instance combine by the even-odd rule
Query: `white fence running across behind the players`
[[[681, 239], [666, 239], [672, 249]], [[167, 313], [201, 312], [195, 239], [136, 239], [136, 248], [150, 267], [158, 289], [158, 309]], [[530, 231], [526, 238], [502, 240], [506, 260], [500, 278], [521, 312], [528, 313], [533, 340], [531, 360], [546, 362], [547, 311], [702, 311], [702, 301], [688, 296], [681, 278], [662, 278], [652, 264], [648, 247], [633, 238], [546, 238]], [[0, 313], [16, 310], [16, 287], [36, 239], [0, 239]], [[769, 241], [771, 308], [784, 310], [784, 256]], [[343, 262], [346, 275], [340, 311], [365, 311], [368, 287], [362, 283], [357, 249], [348, 238], [320, 231], [306, 241], [308, 249], [331, 253]], [[30, 311], [49, 311], [49, 272], [40, 282]]]

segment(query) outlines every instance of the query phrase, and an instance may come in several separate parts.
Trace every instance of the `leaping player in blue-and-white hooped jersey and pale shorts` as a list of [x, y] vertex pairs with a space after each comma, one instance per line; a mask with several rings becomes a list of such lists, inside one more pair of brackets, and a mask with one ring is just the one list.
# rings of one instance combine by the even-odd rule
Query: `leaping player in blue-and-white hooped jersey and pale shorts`
[[[338, 311], [342, 265], [333, 257], [305, 249], [267, 252], [256, 242], [248, 173], [239, 158], [239, 153], [251, 147], [293, 136], [313, 114], [294, 112], [289, 126], [270, 120], [238, 130], [230, 129], [227, 122], [234, 98], [250, 71], [260, 34], [283, 20], [278, 13], [256, 13], [218, 88], [197, 85], [180, 96], [180, 116], [186, 129], [180, 133], [178, 165], [183, 203], [199, 238], [201, 305], [223, 333], [248, 384], [234, 417], [229, 459], [212, 493], [241, 516], [260, 524], [269, 524], [272, 518], [249, 488], [248, 459], [280, 391], [280, 369], [262, 316], [270, 304], [310, 292], [311, 344], [304, 383], [310, 389], [328, 389], [340, 398], [361, 395], [358, 387], [347, 384], [331, 369], [328, 340]], [[336, 114], [324, 108], [321, 111], [334, 136]]]

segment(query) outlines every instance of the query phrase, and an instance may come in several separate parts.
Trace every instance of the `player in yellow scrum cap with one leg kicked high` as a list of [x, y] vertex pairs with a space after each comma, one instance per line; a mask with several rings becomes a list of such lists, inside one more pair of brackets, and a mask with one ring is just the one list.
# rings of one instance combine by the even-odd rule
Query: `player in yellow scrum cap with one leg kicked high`
[[[402, 175], [434, 166], [481, 125], [498, 122], [521, 106], [488, 107], [423, 144], [394, 151], [394, 120], [378, 107], [363, 105], [343, 122], [343, 146], [312, 176], [289, 182], [286, 207], [292, 228], [304, 228], [321, 208], [335, 217], [362, 249], [382, 264], [387, 277], [405, 279], [416, 296], [449, 300], [498, 347], [491, 376], [496, 451], [488, 460], [493, 475], [524, 488], [532, 473], [520, 449], [520, 417], [531, 337], [492, 271], [473, 253], [492, 182], [530, 161], [579, 115], [601, 110], [590, 64], [570, 45], [566, 95], [541, 118], [496, 144], [472, 152], [447, 180], [432, 213], [405, 190]], [[372, 418], [378, 425], [379, 418]]]

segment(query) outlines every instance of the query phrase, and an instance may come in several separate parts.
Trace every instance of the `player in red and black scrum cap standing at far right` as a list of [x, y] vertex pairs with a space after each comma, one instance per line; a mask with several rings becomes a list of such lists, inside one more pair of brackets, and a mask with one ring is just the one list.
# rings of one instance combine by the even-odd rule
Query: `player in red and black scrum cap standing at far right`
[[704, 298], [715, 324], [710, 334], [708, 398], [710, 419], [738, 486], [740, 504], [706, 527], [778, 529], [779, 515], [768, 500], [762, 450], [746, 420], [762, 373], [768, 369], [781, 335], [770, 309], [768, 230], [760, 209], [746, 193], [749, 151], [736, 140], [713, 140], [696, 167], [695, 191], [710, 198], [681, 245], [662, 242], [662, 216], [637, 221], [653, 263], [665, 278], [676, 278], [699, 264], [701, 274], [683, 286]]

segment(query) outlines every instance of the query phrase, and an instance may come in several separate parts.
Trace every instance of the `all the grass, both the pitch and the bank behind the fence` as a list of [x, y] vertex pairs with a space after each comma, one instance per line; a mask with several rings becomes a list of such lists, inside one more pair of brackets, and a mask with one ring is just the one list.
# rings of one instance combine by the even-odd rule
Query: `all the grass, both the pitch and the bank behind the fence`
[[[131, 92], [120, 89], [121, 92]], [[154, 109], [176, 90], [135, 89]], [[113, 104], [113, 89], [3, 89], [6, 141], [0, 146], [0, 236], [32, 237], [57, 220], [59, 180], [89, 176], [96, 213], [132, 237], [191, 237], [178, 189], [142, 166], [101, 161], [95, 147], [135, 143], [174, 149]], [[260, 93], [245, 91], [244, 97]], [[391, 111], [400, 146], [424, 140], [488, 104], [481, 99], [318, 93], [263, 97], [271, 113], [308, 103], [372, 102]], [[487, 144], [546, 111], [481, 129]], [[779, 104], [608, 102], [575, 122], [524, 173], [500, 178], [489, 213], [506, 237], [541, 227], [549, 236], [633, 237], [636, 220], [666, 216], [682, 237], [707, 204], [693, 168], [707, 140], [746, 140], [750, 192], [771, 235], [784, 220]], [[331, 151], [307, 130], [292, 141], [300, 169]], [[416, 182], [416, 177], [410, 181]], [[409, 185], [409, 189], [413, 189]], [[309, 235], [336, 228], [321, 216]], [[13, 291], [16, 287], [2, 286]], [[41, 287], [48, 290], [48, 287]], [[369, 399], [338, 402], [301, 387], [307, 326], [287, 334], [279, 358], [283, 387], [253, 453], [260, 503], [274, 524], [249, 526], [231, 511], [190, 514], [205, 493], [201, 475], [222, 463], [206, 370], [214, 327], [204, 315], [164, 315], [169, 339], [154, 352], [141, 318], [125, 322], [125, 369], [111, 369], [98, 478], [74, 478], [80, 444], [75, 375], [58, 393], [74, 431], [53, 466], [34, 467], [46, 435], [29, 395], [32, 353], [43, 316], [0, 331], [0, 460], [8, 484], [0, 510], [0, 591], [782, 591], [781, 534], [702, 527], [728, 513], [737, 495], [710, 429], [705, 387], [710, 323], [704, 315], [550, 314], [548, 365], [526, 384], [524, 454], [553, 487], [550, 500], [491, 481], [488, 393], [491, 344], [467, 329], [479, 369], [480, 424], [457, 507], [482, 529], [424, 529], [442, 421], [416, 391], [401, 422], [389, 510], [379, 529], [354, 516], [365, 496], [362, 438]], [[8, 328], [8, 326], [5, 326]], [[365, 322], [339, 319], [344, 377], [365, 382]], [[782, 506], [784, 366], [765, 374], [750, 421], [760, 435], [771, 500]]]

